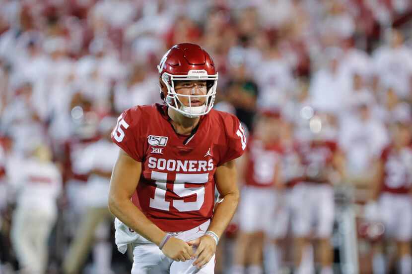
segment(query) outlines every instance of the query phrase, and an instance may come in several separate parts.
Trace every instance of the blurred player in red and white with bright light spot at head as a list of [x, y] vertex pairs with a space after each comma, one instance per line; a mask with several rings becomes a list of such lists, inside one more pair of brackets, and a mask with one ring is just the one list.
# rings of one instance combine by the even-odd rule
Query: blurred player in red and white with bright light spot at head
[[[334, 223], [334, 190], [332, 182], [342, 174], [334, 116], [323, 112], [309, 121], [310, 139], [297, 147], [303, 167], [301, 180], [292, 190], [293, 233], [297, 241], [299, 269], [297, 273], [314, 273], [313, 238], [319, 240], [321, 274], [332, 274], [330, 238]], [[312, 227], [316, 224], [315, 227]], [[313, 237], [312, 237], [313, 235]]]

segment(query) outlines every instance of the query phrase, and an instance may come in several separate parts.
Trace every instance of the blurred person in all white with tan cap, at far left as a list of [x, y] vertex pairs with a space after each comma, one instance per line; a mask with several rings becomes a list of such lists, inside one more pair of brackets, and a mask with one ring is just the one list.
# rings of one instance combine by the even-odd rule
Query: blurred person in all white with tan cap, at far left
[[47, 146], [34, 144], [26, 148], [26, 152], [26, 159], [7, 166], [17, 204], [11, 240], [20, 269], [44, 274], [48, 262], [47, 243], [57, 218], [56, 199], [62, 191], [62, 177], [51, 162], [51, 150]]

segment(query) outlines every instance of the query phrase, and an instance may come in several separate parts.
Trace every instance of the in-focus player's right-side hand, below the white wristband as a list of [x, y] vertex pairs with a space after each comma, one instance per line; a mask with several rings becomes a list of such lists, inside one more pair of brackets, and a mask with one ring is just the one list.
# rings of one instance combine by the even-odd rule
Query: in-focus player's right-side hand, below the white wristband
[[192, 259], [197, 258], [193, 265], [199, 269], [206, 265], [216, 252], [216, 241], [209, 235], [203, 235], [200, 238], [188, 242], [188, 244], [198, 247]]

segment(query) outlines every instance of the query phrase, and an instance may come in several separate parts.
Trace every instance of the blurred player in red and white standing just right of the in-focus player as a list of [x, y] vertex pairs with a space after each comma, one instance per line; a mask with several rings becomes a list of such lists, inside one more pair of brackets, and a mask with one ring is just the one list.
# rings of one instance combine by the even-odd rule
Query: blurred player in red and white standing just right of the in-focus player
[[278, 113], [259, 114], [253, 136], [242, 161], [242, 199], [239, 204], [240, 233], [235, 248], [235, 263], [231, 273], [243, 274], [248, 264], [249, 274], [262, 274], [265, 235], [273, 227], [275, 210], [275, 182], [279, 174], [281, 148], [278, 143], [280, 119]]

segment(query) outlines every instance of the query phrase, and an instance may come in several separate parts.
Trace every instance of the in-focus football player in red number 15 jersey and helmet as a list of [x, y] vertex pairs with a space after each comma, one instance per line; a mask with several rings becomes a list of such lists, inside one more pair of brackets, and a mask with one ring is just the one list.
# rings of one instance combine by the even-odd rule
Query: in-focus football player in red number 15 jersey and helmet
[[121, 148], [109, 193], [116, 241], [122, 251], [132, 244], [132, 274], [212, 274], [239, 200], [234, 159], [246, 137], [235, 116], [212, 110], [218, 75], [205, 50], [175, 45], [158, 71], [164, 104], [124, 111], [112, 132]]

